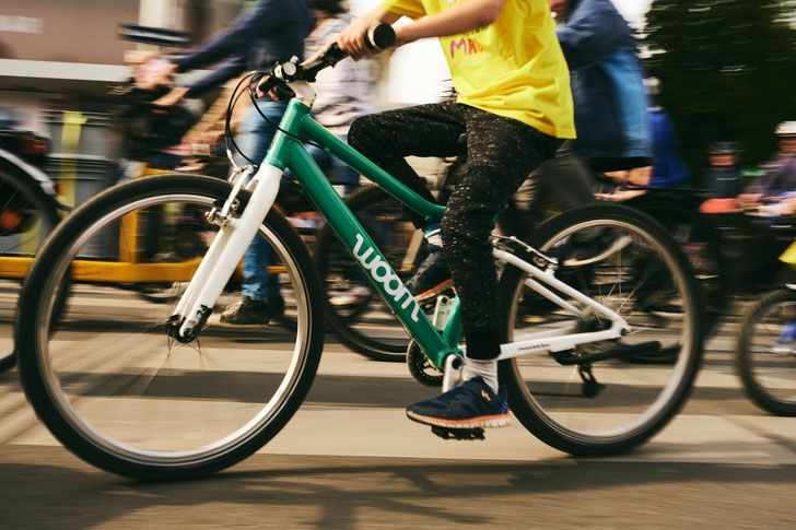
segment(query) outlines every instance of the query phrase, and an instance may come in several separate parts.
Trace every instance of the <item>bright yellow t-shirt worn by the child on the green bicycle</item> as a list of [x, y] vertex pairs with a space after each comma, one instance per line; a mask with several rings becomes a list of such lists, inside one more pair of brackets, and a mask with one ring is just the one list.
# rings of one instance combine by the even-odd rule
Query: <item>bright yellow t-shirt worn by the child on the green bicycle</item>
[[[391, 13], [434, 15], [468, 0], [384, 0]], [[490, 26], [440, 37], [458, 102], [575, 138], [570, 71], [546, 0], [507, 0]]]

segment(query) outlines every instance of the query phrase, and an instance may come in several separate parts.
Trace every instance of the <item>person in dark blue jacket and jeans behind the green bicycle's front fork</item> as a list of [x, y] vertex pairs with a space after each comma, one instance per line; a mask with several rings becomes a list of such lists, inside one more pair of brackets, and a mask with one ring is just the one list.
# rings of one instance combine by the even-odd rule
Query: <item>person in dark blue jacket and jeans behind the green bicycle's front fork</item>
[[[176, 60], [165, 72], [182, 73], [223, 61], [209, 75], [189, 86], [176, 87], [160, 105], [174, 105], [184, 97], [199, 97], [247, 70], [270, 70], [278, 61], [304, 57], [304, 39], [315, 26], [306, 0], [259, 0], [244, 4], [242, 14], [231, 27], [191, 54]], [[278, 123], [285, 103], [266, 96], [259, 107]], [[255, 162], [265, 158], [276, 130], [251, 108], [238, 129], [241, 151]], [[227, 307], [219, 323], [227, 326], [267, 326], [272, 316], [284, 310], [278, 276], [267, 272], [273, 261], [272, 250], [261, 237], [255, 237], [244, 257], [243, 296]]]

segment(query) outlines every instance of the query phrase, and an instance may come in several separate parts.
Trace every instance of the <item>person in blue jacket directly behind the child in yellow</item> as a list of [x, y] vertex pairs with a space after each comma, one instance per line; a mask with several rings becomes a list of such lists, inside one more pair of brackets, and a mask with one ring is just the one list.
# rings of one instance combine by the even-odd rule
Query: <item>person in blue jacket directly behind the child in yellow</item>
[[570, 68], [577, 139], [565, 142], [515, 196], [526, 225], [538, 220], [547, 197], [562, 209], [594, 201], [595, 172], [627, 176], [652, 164], [647, 101], [628, 22], [610, 0], [548, 3]]

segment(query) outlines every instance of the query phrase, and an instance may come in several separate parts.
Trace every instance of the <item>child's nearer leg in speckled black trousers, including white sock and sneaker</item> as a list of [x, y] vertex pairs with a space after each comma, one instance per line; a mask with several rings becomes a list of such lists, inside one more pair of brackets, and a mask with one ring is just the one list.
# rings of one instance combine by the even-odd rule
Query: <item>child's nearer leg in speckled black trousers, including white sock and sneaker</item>
[[561, 141], [510, 118], [461, 107], [467, 119], [467, 167], [442, 222], [445, 255], [461, 301], [467, 343], [465, 384], [407, 409], [409, 417], [443, 426], [503, 426], [505, 389], [497, 388], [497, 274], [490, 234], [495, 217]]

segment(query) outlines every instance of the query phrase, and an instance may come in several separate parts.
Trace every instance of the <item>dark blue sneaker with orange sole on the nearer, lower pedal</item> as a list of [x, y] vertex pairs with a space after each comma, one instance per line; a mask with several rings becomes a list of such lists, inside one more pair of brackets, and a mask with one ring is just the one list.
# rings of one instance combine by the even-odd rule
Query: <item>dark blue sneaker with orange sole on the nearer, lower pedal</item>
[[447, 428], [505, 427], [511, 423], [508, 394], [495, 396], [480, 377], [473, 377], [442, 396], [407, 407], [410, 420]]

